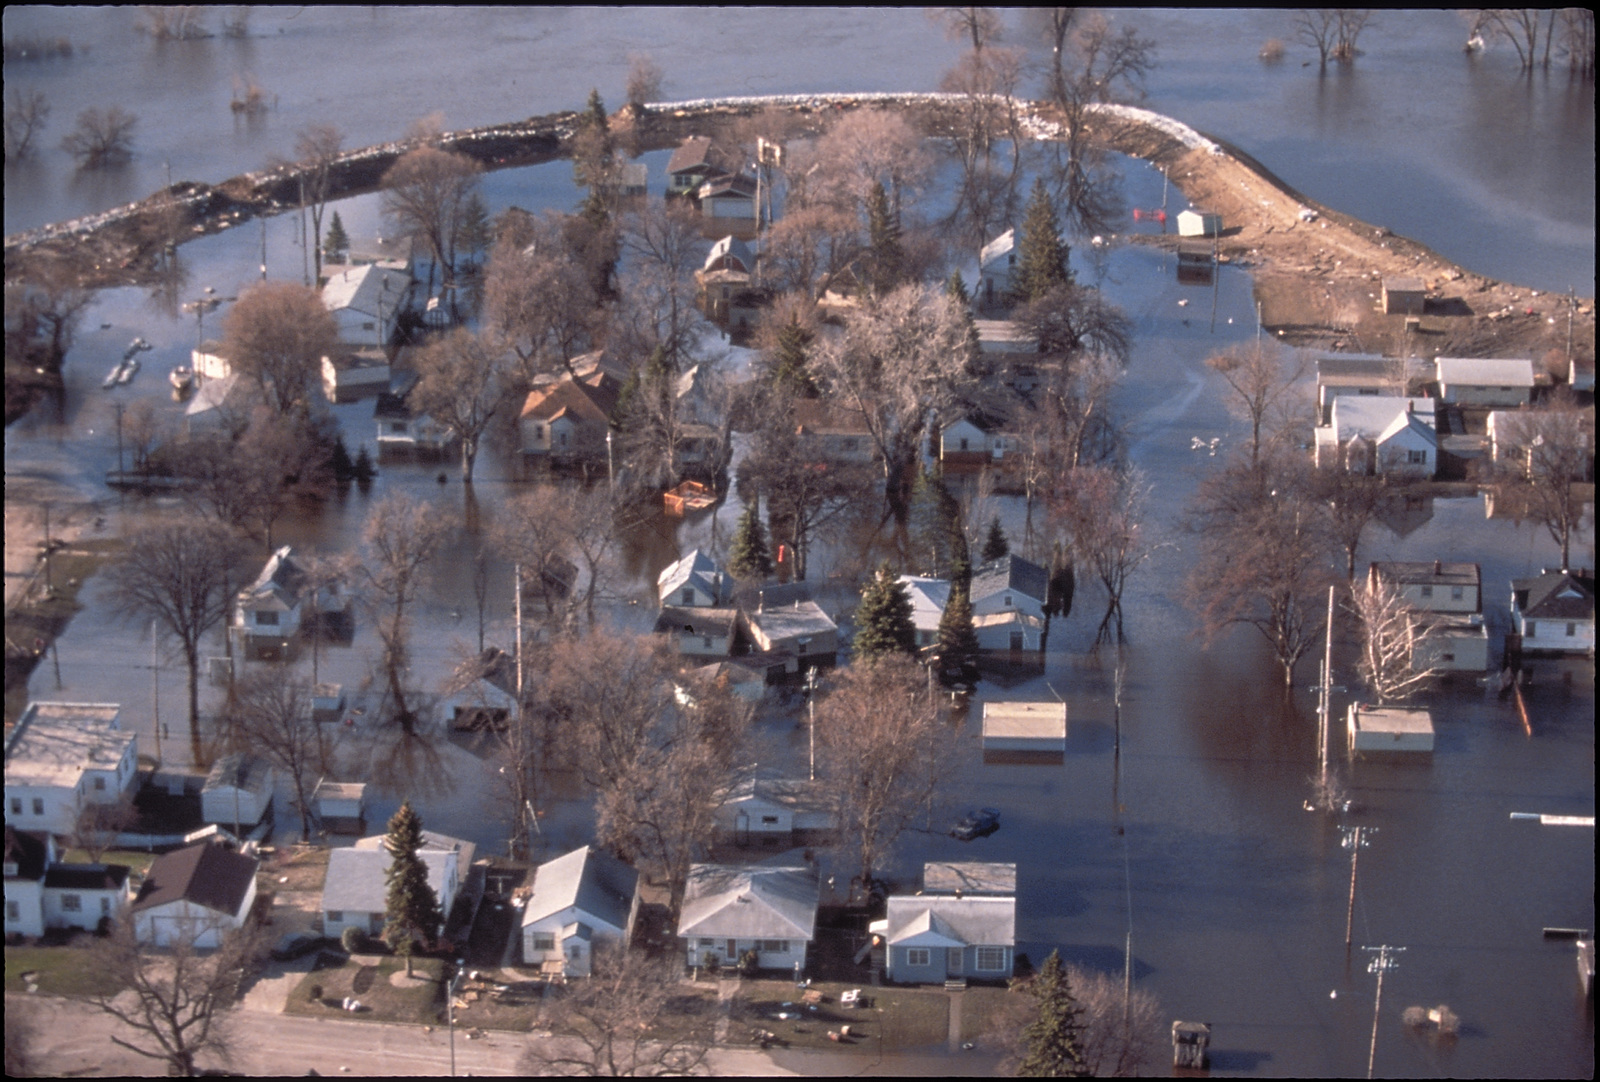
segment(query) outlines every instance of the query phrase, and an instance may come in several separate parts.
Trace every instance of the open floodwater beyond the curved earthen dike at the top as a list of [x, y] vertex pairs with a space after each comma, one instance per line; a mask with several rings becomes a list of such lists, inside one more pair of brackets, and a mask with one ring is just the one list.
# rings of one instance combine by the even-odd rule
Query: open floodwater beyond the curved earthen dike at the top
[[[1008, 37], [1043, 64], [1032, 16]], [[218, 182], [290, 157], [294, 133], [334, 123], [347, 146], [621, 99], [648, 51], [662, 96], [938, 90], [958, 45], [885, 8], [256, 8], [246, 38], [158, 43], [134, 6], [5, 10], [5, 37], [67, 37], [70, 59], [6, 64], [38, 88], [51, 126], [34, 162], [6, 165], [6, 234], [139, 198], [166, 181]], [[1507, 45], [1466, 54], [1453, 11], [1384, 11], [1349, 67], [1318, 74], [1283, 10], [1117, 13], [1157, 42], [1149, 106], [1230, 139], [1309, 197], [1419, 240], [1494, 279], [1594, 295], [1594, 86], [1565, 69], [1528, 78]], [[1269, 38], [1278, 64], [1258, 59]], [[272, 110], [229, 101], [254, 80]], [[77, 174], [56, 147], [77, 114], [139, 115], [134, 160]]]

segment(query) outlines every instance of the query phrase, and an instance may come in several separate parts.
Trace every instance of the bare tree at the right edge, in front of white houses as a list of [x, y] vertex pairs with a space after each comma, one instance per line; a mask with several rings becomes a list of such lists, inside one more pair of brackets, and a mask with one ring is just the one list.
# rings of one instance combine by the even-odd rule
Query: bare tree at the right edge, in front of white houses
[[1557, 407], [1506, 416], [1496, 432], [1504, 445], [1501, 491], [1514, 506], [1541, 523], [1562, 546], [1562, 567], [1571, 567], [1573, 536], [1594, 517], [1594, 503], [1584, 496], [1584, 482], [1594, 482], [1594, 410]]

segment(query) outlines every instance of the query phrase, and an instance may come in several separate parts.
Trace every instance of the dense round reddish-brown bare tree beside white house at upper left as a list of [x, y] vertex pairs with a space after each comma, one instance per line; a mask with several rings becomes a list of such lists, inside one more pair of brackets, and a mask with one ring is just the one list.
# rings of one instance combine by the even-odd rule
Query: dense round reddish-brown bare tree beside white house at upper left
[[222, 319], [222, 343], [234, 370], [283, 415], [307, 405], [322, 359], [338, 341], [338, 323], [317, 291], [293, 282], [251, 287]]

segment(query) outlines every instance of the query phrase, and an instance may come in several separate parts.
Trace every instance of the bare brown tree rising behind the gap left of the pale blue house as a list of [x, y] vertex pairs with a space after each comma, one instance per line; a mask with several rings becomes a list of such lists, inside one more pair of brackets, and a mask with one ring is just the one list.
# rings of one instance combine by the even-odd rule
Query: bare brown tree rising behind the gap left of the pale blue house
[[886, 655], [837, 677], [818, 707], [816, 736], [840, 845], [866, 888], [918, 808], [931, 808], [954, 733], [922, 666]]

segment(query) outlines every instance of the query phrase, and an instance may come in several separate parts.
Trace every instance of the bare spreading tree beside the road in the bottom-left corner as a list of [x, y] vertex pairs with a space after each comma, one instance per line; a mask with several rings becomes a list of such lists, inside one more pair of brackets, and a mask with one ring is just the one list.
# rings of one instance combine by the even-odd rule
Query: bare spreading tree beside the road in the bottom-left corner
[[206, 928], [181, 933], [162, 951], [139, 943], [134, 920], [114, 922], [109, 936], [96, 943], [96, 968], [118, 991], [101, 992], [90, 1002], [133, 1031], [110, 1042], [149, 1060], [166, 1063], [179, 1077], [200, 1074], [200, 1056], [227, 1058], [227, 1007], [242, 970], [261, 954], [261, 925], [250, 922], [222, 936], [214, 951], [202, 951], [195, 938]]

